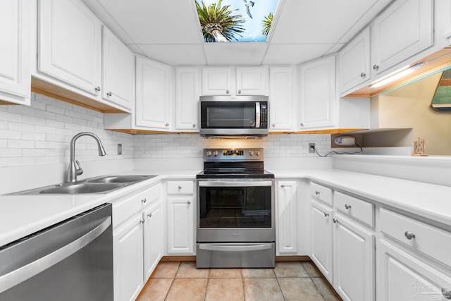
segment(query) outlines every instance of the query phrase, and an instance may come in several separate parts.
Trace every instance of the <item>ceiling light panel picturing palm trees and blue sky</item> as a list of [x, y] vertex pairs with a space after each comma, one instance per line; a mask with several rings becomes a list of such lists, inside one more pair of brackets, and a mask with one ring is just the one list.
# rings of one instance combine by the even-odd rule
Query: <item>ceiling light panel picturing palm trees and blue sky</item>
[[266, 42], [278, 0], [196, 0], [204, 42]]

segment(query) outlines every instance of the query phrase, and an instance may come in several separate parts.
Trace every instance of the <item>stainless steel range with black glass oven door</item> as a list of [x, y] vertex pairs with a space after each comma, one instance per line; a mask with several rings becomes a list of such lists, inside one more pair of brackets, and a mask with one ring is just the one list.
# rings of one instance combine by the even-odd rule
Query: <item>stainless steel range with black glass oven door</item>
[[262, 148], [204, 149], [197, 175], [197, 267], [274, 267], [274, 175]]

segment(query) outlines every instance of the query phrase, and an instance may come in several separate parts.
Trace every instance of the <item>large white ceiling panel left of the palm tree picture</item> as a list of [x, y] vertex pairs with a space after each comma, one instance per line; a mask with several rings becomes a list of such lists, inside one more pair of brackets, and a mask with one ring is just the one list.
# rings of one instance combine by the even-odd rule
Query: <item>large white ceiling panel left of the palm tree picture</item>
[[194, 2], [187, 0], [97, 0], [135, 44], [201, 42]]

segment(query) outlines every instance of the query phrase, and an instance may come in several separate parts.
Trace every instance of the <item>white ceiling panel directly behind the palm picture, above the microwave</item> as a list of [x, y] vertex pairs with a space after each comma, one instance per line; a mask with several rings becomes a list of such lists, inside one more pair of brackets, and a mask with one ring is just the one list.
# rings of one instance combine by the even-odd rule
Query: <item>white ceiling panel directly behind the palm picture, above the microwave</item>
[[266, 43], [204, 43], [208, 65], [260, 65]]

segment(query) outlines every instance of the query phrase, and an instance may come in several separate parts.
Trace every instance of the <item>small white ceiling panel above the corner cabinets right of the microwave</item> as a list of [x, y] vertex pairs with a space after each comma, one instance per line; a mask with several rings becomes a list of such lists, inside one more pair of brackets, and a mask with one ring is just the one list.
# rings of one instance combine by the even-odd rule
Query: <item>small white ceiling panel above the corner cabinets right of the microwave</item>
[[266, 51], [264, 65], [297, 64], [316, 59], [333, 44], [271, 44]]

